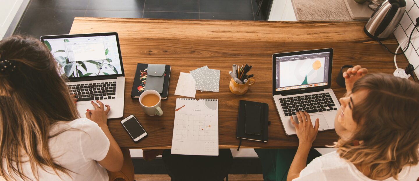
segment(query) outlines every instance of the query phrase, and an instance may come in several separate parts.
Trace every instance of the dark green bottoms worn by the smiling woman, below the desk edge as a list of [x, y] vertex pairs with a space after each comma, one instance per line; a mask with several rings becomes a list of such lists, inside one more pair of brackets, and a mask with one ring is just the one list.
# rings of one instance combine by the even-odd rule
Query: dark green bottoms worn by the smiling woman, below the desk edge
[[[288, 170], [294, 159], [296, 148], [255, 149], [262, 163], [264, 181], [286, 181]], [[321, 156], [314, 148], [310, 149], [307, 164]]]

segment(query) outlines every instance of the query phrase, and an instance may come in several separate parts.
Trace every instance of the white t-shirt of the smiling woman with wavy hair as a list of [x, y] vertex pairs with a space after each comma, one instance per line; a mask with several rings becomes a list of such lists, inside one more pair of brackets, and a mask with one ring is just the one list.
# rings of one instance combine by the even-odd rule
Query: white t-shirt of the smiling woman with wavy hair
[[[411, 167], [404, 167], [398, 174], [400, 181], [416, 181], [419, 176], [419, 164]], [[393, 177], [384, 181], [394, 181]], [[340, 158], [334, 151], [315, 158], [307, 167], [300, 172], [300, 177], [292, 181], [375, 181], [362, 172], [354, 164]]]

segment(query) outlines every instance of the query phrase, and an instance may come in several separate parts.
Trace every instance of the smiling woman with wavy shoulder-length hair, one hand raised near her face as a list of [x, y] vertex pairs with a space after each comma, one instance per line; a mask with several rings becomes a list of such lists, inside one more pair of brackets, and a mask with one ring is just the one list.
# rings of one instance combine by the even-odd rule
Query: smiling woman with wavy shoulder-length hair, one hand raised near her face
[[[341, 107], [335, 117], [335, 130], [340, 137], [333, 146], [336, 151], [307, 165], [319, 122], [315, 120], [313, 126], [307, 112], [297, 113], [298, 123], [291, 117], [299, 146], [291, 165], [288, 162], [288, 173], [277, 171], [275, 180], [418, 179], [419, 84], [390, 74], [367, 73], [367, 69], [355, 66], [343, 74], [347, 94], [339, 99]], [[266, 158], [263, 151], [266, 150], [256, 150]], [[284, 151], [277, 152], [281, 155]]]

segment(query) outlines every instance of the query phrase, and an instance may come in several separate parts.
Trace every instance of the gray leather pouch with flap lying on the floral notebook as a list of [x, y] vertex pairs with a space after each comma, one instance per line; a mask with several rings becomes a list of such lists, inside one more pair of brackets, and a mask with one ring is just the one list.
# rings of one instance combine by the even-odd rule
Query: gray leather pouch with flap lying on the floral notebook
[[155, 90], [158, 93], [163, 93], [165, 70], [165, 64], [148, 64], [147, 81], [145, 82], [144, 90]]

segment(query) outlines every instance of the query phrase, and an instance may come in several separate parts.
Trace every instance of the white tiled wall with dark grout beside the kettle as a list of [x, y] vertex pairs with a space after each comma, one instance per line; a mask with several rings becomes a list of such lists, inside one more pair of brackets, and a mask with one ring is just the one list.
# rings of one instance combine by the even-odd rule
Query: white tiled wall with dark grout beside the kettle
[[[406, 12], [403, 15], [403, 18], [400, 21], [400, 25], [394, 31], [394, 36], [399, 43], [409, 38], [414, 24], [416, 24], [416, 18], [419, 17], [419, 0], [406, 0]], [[413, 36], [419, 33], [418, 28], [414, 31]], [[410, 64], [416, 68], [419, 66], [419, 37], [411, 40], [412, 44], [409, 46], [409, 49], [404, 53], [409, 60]], [[402, 45], [402, 48], [405, 47], [407, 42]], [[413, 45], [413, 46], [412, 46]], [[396, 50], [391, 50], [396, 51]], [[399, 50], [400, 52], [400, 50]], [[399, 67], [404, 69], [405, 67]], [[419, 68], [415, 70], [415, 74], [419, 74]]]

